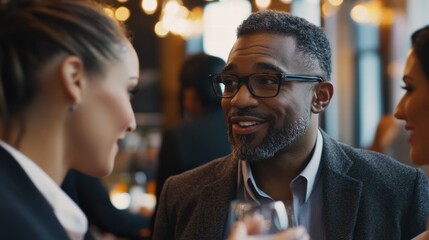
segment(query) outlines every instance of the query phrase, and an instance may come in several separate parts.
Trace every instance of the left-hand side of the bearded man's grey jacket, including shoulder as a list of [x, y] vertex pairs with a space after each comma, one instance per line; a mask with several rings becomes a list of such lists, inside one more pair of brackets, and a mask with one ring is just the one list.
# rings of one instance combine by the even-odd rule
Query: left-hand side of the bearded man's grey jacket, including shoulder
[[237, 160], [229, 155], [169, 178], [153, 239], [223, 239], [237, 171]]

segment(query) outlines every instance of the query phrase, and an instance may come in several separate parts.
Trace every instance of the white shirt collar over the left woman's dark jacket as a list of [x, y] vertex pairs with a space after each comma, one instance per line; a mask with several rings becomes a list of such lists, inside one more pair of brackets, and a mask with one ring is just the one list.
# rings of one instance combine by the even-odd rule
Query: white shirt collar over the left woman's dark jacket
[[37, 189], [46, 198], [70, 239], [83, 239], [88, 229], [88, 220], [76, 203], [27, 156], [1, 140], [0, 146], [15, 158]]

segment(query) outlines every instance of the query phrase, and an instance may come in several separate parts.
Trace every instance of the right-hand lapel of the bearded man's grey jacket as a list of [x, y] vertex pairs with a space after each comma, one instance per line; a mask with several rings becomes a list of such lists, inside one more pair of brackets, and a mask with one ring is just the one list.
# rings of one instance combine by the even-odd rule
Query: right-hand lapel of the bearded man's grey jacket
[[348, 175], [353, 162], [323, 134], [321, 171], [326, 239], [353, 239], [362, 183]]

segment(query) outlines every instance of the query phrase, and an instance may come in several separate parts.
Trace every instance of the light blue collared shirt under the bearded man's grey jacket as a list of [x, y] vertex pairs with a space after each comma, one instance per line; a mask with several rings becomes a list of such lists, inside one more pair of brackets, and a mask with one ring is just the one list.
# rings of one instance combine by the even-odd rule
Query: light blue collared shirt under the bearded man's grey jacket
[[[322, 179], [319, 176], [322, 148], [323, 137], [318, 130], [316, 145], [310, 161], [304, 170], [290, 183], [296, 221], [299, 225], [306, 227], [312, 238], [317, 236], [317, 239], [325, 238], [322, 211]], [[256, 202], [258, 202], [258, 198], [272, 200], [268, 194], [256, 185], [250, 164], [242, 160], [240, 160], [240, 163], [245, 188], [244, 194], [247, 194]]]

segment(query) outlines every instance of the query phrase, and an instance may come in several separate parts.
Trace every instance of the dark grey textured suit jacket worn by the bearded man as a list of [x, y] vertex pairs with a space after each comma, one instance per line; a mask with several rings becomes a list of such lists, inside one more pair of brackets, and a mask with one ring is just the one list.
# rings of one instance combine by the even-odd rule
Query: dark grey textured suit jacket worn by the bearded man
[[[422, 171], [322, 135], [326, 239], [411, 239], [425, 230], [429, 190]], [[237, 165], [229, 155], [169, 178], [153, 239], [225, 239]]]

